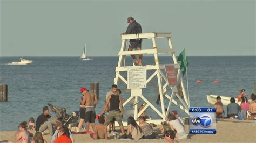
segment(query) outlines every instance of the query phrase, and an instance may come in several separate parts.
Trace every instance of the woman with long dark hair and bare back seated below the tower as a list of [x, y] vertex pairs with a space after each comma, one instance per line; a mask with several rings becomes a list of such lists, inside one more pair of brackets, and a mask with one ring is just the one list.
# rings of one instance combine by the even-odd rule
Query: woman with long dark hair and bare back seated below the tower
[[138, 126], [133, 117], [127, 119], [127, 131], [119, 139], [142, 139], [142, 129]]

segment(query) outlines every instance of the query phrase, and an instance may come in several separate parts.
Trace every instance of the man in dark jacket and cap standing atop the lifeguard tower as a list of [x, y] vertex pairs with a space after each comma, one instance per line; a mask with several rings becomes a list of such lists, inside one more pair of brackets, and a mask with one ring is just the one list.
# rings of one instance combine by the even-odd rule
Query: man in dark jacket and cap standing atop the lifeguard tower
[[[133, 17], [127, 18], [127, 23], [129, 23], [127, 30], [122, 34], [136, 34], [137, 39], [131, 39], [128, 51], [132, 51], [133, 49], [141, 50], [142, 49], [142, 39], [139, 39], [139, 33], [142, 33], [142, 26], [133, 19]], [[134, 64], [136, 66], [142, 65], [142, 54], [139, 54], [139, 61], [136, 58], [136, 55], [131, 55]]]

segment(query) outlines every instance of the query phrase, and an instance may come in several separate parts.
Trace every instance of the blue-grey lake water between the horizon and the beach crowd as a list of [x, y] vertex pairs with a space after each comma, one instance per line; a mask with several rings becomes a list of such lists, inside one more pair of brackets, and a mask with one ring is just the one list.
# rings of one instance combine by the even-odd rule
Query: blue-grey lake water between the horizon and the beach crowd
[[[37, 118], [43, 106], [52, 103], [65, 107], [68, 113], [79, 111], [81, 87], [90, 89], [90, 83], [99, 83], [99, 104], [96, 113], [102, 111], [106, 92], [110, 90], [115, 77], [118, 57], [96, 57], [93, 61], [80, 61], [77, 57], [29, 57], [32, 65], [7, 65], [17, 61], [18, 57], [0, 58], [0, 84], [8, 84], [8, 102], [0, 102], [0, 130], [16, 130], [22, 121], [30, 117]], [[256, 81], [255, 56], [210, 56], [188, 57], [188, 85], [191, 106], [210, 106], [206, 94], [237, 97], [237, 89], [246, 89], [251, 95]], [[153, 63], [153, 57], [144, 57], [145, 65]], [[170, 57], [160, 57], [161, 64], [170, 64]], [[132, 59], [126, 58], [126, 65], [132, 65]], [[151, 72], [148, 72], [148, 76]], [[196, 81], [200, 79], [202, 83]], [[218, 84], [213, 83], [219, 80]], [[156, 79], [152, 81], [157, 83]], [[184, 80], [184, 83], [186, 81]], [[119, 88], [124, 88], [120, 83]], [[151, 85], [143, 90], [143, 95], [156, 105], [156, 92]], [[127, 99], [128, 94], [122, 98]], [[140, 102], [142, 104], [143, 102]], [[157, 105], [156, 105], [157, 106]], [[160, 110], [160, 106], [157, 106]], [[172, 105], [171, 110], [178, 110], [181, 117], [186, 113]], [[131, 109], [125, 106], [125, 109]], [[153, 119], [160, 118], [152, 109], [146, 114]], [[54, 115], [54, 114], [52, 114]], [[124, 117], [127, 119], [129, 115]]]

